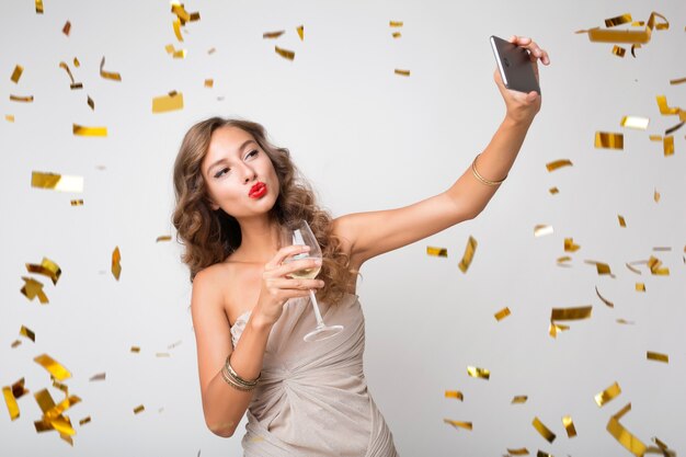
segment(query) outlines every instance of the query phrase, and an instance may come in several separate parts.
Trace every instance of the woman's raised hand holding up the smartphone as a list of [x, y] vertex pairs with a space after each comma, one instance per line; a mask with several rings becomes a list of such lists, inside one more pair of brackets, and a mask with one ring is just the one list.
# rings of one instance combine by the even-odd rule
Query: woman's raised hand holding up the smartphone
[[[541, 49], [534, 41], [531, 41], [531, 38], [526, 36], [513, 35], [510, 37], [508, 42], [514, 43], [515, 45], [528, 50], [531, 65], [534, 66], [536, 80], [539, 80], [538, 60], [540, 60], [544, 65], [550, 65], [550, 58], [548, 57], [548, 53]], [[503, 95], [503, 100], [505, 101], [505, 105], [507, 108], [506, 116], [517, 123], [533, 122], [534, 117], [540, 110], [540, 95], [535, 91], [524, 93], [507, 89], [505, 84], [503, 84], [503, 80], [500, 76], [500, 71], [498, 70], [498, 68], [495, 68], [493, 79], [495, 80], [498, 89], [500, 90], [500, 93], [501, 95]]]

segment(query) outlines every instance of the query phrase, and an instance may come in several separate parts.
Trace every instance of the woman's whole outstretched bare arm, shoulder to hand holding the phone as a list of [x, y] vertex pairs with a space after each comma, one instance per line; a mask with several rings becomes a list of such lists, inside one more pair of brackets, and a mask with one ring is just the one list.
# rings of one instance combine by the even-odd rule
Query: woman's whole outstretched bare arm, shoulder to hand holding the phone
[[[525, 47], [538, 77], [537, 60], [549, 64], [548, 54], [530, 38], [513, 36], [510, 42]], [[351, 245], [351, 260], [365, 261], [413, 243], [456, 224], [472, 219], [495, 194], [519, 152], [526, 133], [540, 110], [540, 96], [506, 89], [494, 72], [506, 105], [505, 118], [491, 142], [447, 191], [397, 209], [356, 213], [334, 221], [334, 232]], [[472, 168], [473, 167], [473, 168]]]

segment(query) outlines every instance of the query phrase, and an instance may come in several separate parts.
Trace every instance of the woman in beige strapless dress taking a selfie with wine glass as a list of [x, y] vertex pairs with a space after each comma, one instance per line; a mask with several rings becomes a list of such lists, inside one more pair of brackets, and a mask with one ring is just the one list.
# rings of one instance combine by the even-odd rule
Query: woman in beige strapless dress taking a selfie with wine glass
[[[548, 65], [530, 38], [511, 43]], [[364, 319], [356, 272], [367, 260], [476, 217], [504, 181], [540, 108], [536, 92], [495, 83], [506, 115], [485, 150], [446, 192], [403, 208], [332, 219], [298, 180], [288, 150], [261, 125], [213, 117], [185, 135], [174, 165], [174, 227], [186, 245], [203, 410], [208, 429], [242, 439], [252, 456], [397, 456], [392, 434], [367, 391]], [[491, 181], [500, 180], [500, 181]], [[289, 276], [319, 266], [282, 262], [305, 252], [281, 248], [289, 220], [305, 219], [323, 253], [315, 279]], [[315, 328], [308, 290], [328, 322], [345, 330], [304, 342]]]

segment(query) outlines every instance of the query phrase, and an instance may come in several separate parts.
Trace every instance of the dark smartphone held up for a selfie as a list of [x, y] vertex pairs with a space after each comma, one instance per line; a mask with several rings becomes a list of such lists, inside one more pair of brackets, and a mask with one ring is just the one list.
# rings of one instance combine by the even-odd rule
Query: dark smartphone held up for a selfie
[[500, 76], [507, 89], [525, 93], [536, 91], [540, 95], [540, 87], [528, 50], [495, 35], [491, 35], [491, 47]]

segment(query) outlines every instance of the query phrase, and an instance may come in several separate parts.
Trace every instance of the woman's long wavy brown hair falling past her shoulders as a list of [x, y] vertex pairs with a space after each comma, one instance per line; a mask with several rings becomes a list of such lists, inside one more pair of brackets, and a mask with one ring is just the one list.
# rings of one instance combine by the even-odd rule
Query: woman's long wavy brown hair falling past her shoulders
[[222, 262], [241, 244], [241, 230], [236, 218], [222, 209], [213, 210], [209, 207], [201, 172], [211, 134], [229, 126], [252, 135], [272, 161], [278, 176], [279, 195], [270, 209], [270, 217], [279, 226], [307, 220], [323, 256], [319, 278], [324, 281], [325, 286], [318, 292], [318, 296], [323, 301], [338, 302], [357, 272], [350, 270], [350, 258], [341, 250], [341, 241], [332, 232], [331, 215], [317, 205], [312, 188], [290, 160], [288, 149], [272, 145], [262, 125], [236, 118], [210, 117], [195, 124], [184, 136], [174, 162], [176, 206], [172, 222], [176, 228], [176, 240], [185, 245], [181, 259], [191, 270], [191, 282], [201, 270]]

